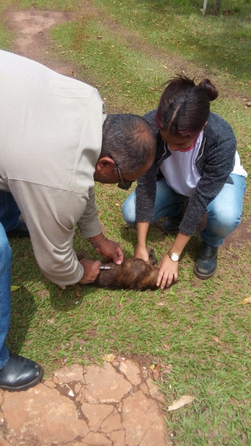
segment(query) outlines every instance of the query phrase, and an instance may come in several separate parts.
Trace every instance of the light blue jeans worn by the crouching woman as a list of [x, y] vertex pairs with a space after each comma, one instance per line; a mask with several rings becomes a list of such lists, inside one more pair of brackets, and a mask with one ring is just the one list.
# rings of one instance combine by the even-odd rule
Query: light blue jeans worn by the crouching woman
[[[206, 228], [200, 233], [202, 239], [210, 246], [220, 246], [224, 239], [235, 230], [241, 222], [243, 197], [246, 180], [240, 175], [231, 174], [234, 184], [226, 183], [217, 197], [207, 206], [208, 219]], [[162, 217], [178, 215], [187, 197], [177, 194], [167, 185], [165, 178], [157, 181], [156, 199], [153, 218], [150, 224]], [[129, 225], [136, 224], [136, 193], [125, 200], [122, 206], [123, 217]]]

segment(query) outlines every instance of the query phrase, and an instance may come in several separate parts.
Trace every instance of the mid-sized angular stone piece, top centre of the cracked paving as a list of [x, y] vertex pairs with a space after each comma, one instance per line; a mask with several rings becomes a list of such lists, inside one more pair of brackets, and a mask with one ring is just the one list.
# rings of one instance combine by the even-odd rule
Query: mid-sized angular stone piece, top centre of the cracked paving
[[132, 390], [132, 384], [110, 363], [90, 366], [85, 375], [85, 400], [92, 404], [119, 403]]

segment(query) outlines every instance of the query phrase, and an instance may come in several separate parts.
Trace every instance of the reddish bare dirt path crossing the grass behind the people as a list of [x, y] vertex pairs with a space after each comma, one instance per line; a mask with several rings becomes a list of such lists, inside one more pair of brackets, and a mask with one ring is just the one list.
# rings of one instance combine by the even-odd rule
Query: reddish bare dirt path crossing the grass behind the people
[[[140, 51], [147, 54], [150, 58], [159, 60], [160, 66], [169, 66], [173, 73], [183, 72], [191, 77], [196, 76], [198, 79], [217, 76], [214, 70], [208, 70], [206, 67], [197, 65], [195, 67], [192, 61], [186, 60], [178, 54], [167, 53], [156, 46], [150, 45], [147, 41], [142, 40], [139, 33], [123, 28], [117, 21], [107, 17], [93, 6], [91, 2], [86, 4], [84, 11], [80, 13], [41, 11], [35, 8], [16, 11], [10, 8], [5, 13], [5, 20], [9, 29], [20, 34], [13, 43], [13, 52], [37, 60], [37, 62], [41, 62], [59, 73], [76, 76], [77, 67], [56, 59], [55, 55], [53, 57], [50, 55], [46, 48], [48, 45], [47, 31], [54, 25], [64, 21], [93, 16], [99, 17], [103, 26], [117, 33], [119, 38], [124, 40], [130, 49]], [[227, 85], [222, 89], [219, 87], [219, 91], [222, 98], [243, 99], [243, 95], [238, 91], [228, 89]]]

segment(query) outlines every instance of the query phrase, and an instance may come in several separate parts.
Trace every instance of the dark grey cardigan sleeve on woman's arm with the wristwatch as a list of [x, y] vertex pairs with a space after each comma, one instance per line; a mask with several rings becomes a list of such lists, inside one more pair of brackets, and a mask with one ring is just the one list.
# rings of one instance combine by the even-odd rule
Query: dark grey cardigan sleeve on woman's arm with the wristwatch
[[202, 176], [189, 199], [179, 226], [185, 235], [193, 235], [206, 212], [207, 205], [219, 194], [235, 165], [236, 139], [232, 135], [208, 150]]

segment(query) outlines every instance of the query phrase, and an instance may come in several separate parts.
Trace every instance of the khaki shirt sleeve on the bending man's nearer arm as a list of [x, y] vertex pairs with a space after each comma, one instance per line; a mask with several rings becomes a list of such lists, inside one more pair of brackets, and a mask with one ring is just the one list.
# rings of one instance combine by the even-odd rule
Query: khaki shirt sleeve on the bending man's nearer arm
[[[73, 236], [88, 209], [88, 198], [29, 182], [12, 180], [9, 187], [28, 226], [42, 273], [62, 288], [77, 283], [83, 267], [73, 250]], [[96, 219], [95, 212], [92, 218]]]

